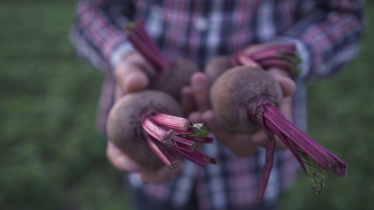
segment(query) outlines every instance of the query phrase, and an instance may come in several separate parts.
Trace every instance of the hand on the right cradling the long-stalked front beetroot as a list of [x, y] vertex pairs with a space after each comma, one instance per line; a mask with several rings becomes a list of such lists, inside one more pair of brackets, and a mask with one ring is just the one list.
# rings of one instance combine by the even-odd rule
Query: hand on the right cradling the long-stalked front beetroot
[[[295, 83], [283, 70], [272, 68], [269, 69], [269, 74], [273, 75], [281, 84], [285, 97], [281, 112], [289, 120], [292, 120], [291, 95], [295, 92]], [[267, 136], [263, 130], [253, 135], [242, 135], [225, 130], [215, 121], [214, 113], [209, 105], [209, 86], [206, 75], [197, 72], [191, 77], [191, 86], [182, 89], [181, 103], [186, 113], [190, 113], [188, 118], [193, 122], [205, 121], [209, 131], [214, 133], [221, 143], [238, 156], [251, 155], [257, 146], [266, 146]], [[276, 149], [284, 148], [286, 146], [279, 138], [276, 138]]]

